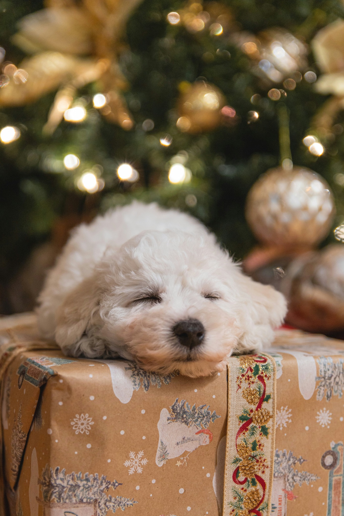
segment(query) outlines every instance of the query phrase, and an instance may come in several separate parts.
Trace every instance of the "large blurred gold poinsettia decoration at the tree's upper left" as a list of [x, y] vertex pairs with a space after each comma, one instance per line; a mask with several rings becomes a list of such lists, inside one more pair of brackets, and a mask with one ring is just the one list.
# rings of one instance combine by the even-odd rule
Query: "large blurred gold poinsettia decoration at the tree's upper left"
[[[31, 57], [5, 67], [0, 106], [22, 106], [57, 88], [43, 128], [54, 132], [76, 91], [97, 80], [107, 120], [129, 130], [133, 121], [120, 93], [126, 87], [117, 55], [126, 21], [142, 0], [46, 0], [19, 22], [13, 42]], [[6, 76], [6, 73], [8, 74]]]

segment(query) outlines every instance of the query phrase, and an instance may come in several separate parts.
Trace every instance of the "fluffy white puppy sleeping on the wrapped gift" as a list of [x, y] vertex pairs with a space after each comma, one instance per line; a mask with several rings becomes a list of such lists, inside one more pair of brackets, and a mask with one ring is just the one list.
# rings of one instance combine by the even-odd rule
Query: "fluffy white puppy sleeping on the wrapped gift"
[[269, 345], [286, 313], [198, 220], [138, 202], [74, 231], [39, 303], [41, 330], [68, 355], [191, 377]]

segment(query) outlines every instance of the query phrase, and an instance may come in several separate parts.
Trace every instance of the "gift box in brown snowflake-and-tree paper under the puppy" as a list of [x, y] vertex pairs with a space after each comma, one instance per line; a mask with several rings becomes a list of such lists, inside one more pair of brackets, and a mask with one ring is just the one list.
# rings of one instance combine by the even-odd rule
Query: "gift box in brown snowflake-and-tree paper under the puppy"
[[0, 514], [342, 516], [344, 343], [279, 330], [190, 379], [0, 319]]

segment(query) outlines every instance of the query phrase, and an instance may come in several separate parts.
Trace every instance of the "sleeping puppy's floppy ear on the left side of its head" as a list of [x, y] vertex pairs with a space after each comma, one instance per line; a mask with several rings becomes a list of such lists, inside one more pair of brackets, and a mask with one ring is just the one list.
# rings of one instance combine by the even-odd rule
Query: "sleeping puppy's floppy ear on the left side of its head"
[[101, 287], [96, 275], [82, 281], [58, 308], [55, 339], [64, 352], [77, 356], [76, 344], [100, 319]]

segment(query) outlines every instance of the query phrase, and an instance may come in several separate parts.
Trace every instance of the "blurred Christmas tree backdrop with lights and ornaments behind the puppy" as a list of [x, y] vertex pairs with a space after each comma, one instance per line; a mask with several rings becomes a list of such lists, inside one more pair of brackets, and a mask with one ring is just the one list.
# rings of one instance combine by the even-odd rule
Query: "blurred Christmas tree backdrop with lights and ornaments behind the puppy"
[[[344, 4], [1, 0], [0, 313], [75, 225], [189, 212], [287, 323], [344, 335]], [[263, 175], [262, 175], [263, 174]]]

